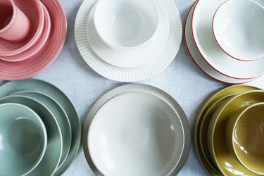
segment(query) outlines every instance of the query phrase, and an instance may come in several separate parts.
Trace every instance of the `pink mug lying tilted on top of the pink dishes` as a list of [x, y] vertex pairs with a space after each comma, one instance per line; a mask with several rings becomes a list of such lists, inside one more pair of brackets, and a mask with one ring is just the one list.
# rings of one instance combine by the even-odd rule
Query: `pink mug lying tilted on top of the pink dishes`
[[23, 42], [29, 37], [31, 23], [13, 0], [0, 1], [0, 37], [10, 42]]

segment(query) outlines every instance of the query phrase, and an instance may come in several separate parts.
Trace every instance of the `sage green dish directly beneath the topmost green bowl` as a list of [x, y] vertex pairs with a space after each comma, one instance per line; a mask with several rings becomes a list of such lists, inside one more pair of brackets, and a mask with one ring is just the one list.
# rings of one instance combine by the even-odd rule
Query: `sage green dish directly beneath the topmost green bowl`
[[31, 108], [43, 120], [48, 136], [46, 151], [39, 165], [27, 175], [53, 175], [58, 167], [58, 163], [61, 161], [61, 153], [63, 149], [61, 130], [54, 115], [42, 103], [26, 96], [6, 96], [0, 99], [0, 103], [22, 104]]

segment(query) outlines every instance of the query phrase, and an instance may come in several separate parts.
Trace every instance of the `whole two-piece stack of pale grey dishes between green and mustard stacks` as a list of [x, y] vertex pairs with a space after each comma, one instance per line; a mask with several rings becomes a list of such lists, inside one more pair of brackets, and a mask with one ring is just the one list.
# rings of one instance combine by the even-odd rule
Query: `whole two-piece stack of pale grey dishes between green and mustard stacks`
[[96, 175], [177, 175], [190, 147], [188, 120], [161, 89], [127, 84], [92, 106], [82, 131]]

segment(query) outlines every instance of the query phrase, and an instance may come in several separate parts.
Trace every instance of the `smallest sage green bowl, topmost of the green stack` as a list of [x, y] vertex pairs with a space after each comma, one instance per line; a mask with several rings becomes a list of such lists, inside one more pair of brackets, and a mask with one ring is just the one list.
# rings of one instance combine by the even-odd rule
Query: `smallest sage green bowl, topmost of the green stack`
[[18, 103], [0, 105], [0, 175], [26, 175], [37, 167], [47, 144], [37, 113]]

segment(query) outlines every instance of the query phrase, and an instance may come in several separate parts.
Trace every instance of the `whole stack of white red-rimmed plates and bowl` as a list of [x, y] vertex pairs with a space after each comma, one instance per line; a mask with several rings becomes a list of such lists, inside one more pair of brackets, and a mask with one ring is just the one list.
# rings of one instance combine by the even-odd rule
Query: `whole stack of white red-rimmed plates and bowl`
[[229, 84], [263, 75], [263, 6], [258, 0], [196, 1], [185, 24], [185, 42], [196, 65]]

